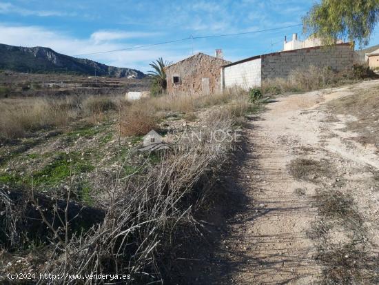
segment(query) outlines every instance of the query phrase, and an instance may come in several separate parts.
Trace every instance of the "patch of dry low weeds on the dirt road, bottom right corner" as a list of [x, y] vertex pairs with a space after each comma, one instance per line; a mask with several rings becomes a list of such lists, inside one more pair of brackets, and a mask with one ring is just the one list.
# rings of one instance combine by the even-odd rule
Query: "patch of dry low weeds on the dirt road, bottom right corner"
[[[379, 258], [369, 250], [367, 233], [354, 199], [335, 189], [317, 190], [314, 201], [322, 219], [314, 227], [318, 240], [317, 261], [323, 266], [322, 284], [376, 284]], [[349, 233], [347, 242], [329, 238], [336, 226]]]

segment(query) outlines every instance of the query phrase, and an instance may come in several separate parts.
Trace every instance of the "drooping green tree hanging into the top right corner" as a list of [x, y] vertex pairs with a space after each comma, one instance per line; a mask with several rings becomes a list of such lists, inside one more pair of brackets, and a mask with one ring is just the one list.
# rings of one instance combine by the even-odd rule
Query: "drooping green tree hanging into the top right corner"
[[378, 21], [379, 0], [321, 0], [303, 17], [303, 30], [325, 44], [349, 39], [362, 47]]

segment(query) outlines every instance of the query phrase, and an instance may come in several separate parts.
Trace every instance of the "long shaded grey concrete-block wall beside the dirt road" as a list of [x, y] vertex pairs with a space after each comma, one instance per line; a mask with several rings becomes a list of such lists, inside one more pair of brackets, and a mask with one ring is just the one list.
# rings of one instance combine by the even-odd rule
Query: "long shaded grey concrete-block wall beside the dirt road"
[[349, 43], [332, 47], [303, 48], [262, 55], [262, 80], [287, 77], [292, 70], [309, 66], [340, 71], [353, 68], [354, 50]]

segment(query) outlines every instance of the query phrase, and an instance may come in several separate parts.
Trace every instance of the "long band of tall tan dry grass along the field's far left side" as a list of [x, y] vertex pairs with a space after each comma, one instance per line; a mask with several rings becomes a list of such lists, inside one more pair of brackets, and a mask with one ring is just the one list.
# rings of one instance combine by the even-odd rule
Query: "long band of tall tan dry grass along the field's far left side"
[[43, 128], [65, 128], [78, 115], [94, 124], [103, 119], [104, 112], [118, 110], [121, 105], [127, 103], [121, 97], [110, 96], [89, 96], [79, 102], [74, 96], [1, 99], [0, 137], [19, 138]]

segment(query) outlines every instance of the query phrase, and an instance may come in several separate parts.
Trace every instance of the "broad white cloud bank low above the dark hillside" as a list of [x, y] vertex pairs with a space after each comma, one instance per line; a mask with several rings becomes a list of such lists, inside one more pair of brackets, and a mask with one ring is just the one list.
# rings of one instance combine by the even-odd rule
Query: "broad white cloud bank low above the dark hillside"
[[[70, 35], [65, 35], [62, 32], [54, 32], [37, 26], [7, 26], [0, 23], [0, 30], [0, 43], [27, 47], [45, 46], [64, 55], [83, 55], [92, 52], [102, 52], [104, 50], [119, 50], [139, 45], [114, 42], [111, 40], [96, 43], [93, 37], [77, 39]], [[94, 34], [96, 34], [96, 32], [94, 32]], [[136, 32], [136, 34], [140, 33]], [[152, 48], [143, 48], [142, 50], [125, 50], [83, 57], [110, 66], [135, 68], [146, 72], [150, 69], [148, 63], [158, 57], [176, 61], [177, 59], [189, 55], [189, 50], [190, 48], [183, 43], [183, 45], [155, 46]]]

